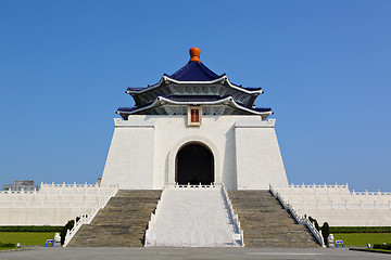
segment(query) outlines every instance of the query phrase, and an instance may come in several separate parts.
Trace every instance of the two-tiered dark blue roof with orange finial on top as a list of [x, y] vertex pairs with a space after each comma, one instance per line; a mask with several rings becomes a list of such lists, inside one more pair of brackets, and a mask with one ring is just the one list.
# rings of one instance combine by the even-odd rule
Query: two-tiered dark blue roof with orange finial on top
[[[135, 107], [119, 107], [117, 114], [123, 117], [131, 114], [160, 114], [156, 112], [156, 105], [162, 104], [156, 101], [162, 98], [168, 98], [171, 101], [180, 99], [180, 102], [175, 104], [177, 106], [185, 104], [211, 105], [205, 103], [205, 99], [210, 101], [210, 99], [230, 98], [236, 107], [232, 112], [234, 115], [258, 115], [260, 109], [263, 113], [267, 110], [268, 115], [272, 114], [270, 108], [255, 108], [254, 106], [256, 98], [263, 93], [262, 88], [243, 88], [235, 84], [225, 74], [217, 75], [201, 62], [200, 49], [191, 48], [189, 53], [190, 61], [184, 67], [172, 75], [164, 74], [157, 83], [147, 88], [128, 88], [126, 93], [134, 98], [136, 105]], [[174, 96], [175, 99], [173, 99]], [[200, 96], [202, 99], [199, 99]], [[166, 114], [164, 113], [164, 115]]]

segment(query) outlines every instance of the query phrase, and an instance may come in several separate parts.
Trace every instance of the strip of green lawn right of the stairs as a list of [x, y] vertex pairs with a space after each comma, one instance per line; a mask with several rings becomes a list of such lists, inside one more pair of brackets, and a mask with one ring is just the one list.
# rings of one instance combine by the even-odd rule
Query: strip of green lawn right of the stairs
[[365, 246], [391, 243], [391, 233], [336, 233], [335, 240], [343, 240], [344, 246]]

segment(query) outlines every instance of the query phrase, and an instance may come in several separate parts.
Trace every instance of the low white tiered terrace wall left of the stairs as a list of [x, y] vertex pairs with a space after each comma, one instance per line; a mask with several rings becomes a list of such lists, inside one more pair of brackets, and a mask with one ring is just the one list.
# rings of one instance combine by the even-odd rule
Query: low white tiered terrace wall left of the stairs
[[0, 225], [65, 225], [89, 214], [116, 187], [43, 184], [38, 192], [0, 192]]

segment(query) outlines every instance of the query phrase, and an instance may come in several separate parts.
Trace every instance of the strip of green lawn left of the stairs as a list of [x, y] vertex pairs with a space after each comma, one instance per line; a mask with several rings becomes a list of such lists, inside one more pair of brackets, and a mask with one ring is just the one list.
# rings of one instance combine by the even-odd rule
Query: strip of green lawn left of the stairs
[[55, 232], [0, 232], [0, 242], [21, 243], [21, 246], [45, 246], [47, 239], [53, 239]]

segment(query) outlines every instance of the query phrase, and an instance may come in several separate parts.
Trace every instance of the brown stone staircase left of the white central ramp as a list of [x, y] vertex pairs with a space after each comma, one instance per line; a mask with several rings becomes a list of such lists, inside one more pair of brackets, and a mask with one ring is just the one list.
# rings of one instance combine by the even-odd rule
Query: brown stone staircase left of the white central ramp
[[119, 190], [90, 224], [78, 230], [67, 247], [142, 247], [161, 193]]

